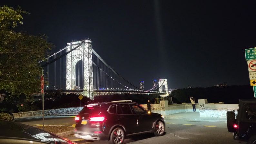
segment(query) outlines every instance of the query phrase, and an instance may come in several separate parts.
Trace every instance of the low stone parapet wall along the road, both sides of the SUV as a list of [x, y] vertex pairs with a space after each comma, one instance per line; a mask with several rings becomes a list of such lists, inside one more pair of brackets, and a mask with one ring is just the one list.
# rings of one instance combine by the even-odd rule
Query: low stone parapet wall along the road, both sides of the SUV
[[[170, 115], [180, 112], [192, 112], [192, 104], [182, 103], [182, 104], [172, 104], [168, 105], [166, 103], [161, 104], [152, 104], [151, 112], [159, 113], [162, 115]], [[147, 110], [147, 104], [141, 104], [141, 106]], [[235, 110], [237, 111], [238, 104], [222, 104], [222, 103], [210, 103], [199, 105], [196, 103], [196, 111], [200, 112], [200, 117], [216, 117], [216, 118], [226, 118], [227, 111]], [[44, 115], [76, 115], [78, 114], [83, 107], [74, 107], [74, 108], [63, 108], [63, 109], [53, 109], [53, 110], [44, 110]], [[23, 117], [23, 116], [42, 116], [42, 110], [37, 111], [28, 111], [21, 113], [13, 113], [14, 117]]]

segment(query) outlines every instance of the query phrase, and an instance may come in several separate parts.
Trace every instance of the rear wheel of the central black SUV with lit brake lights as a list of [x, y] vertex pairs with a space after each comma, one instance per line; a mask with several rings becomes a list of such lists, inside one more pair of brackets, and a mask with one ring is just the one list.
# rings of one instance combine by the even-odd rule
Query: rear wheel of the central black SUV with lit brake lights
[[123, 144], [124, 130], [120, 127], [115, 128], [110, 134], [110, 144]]

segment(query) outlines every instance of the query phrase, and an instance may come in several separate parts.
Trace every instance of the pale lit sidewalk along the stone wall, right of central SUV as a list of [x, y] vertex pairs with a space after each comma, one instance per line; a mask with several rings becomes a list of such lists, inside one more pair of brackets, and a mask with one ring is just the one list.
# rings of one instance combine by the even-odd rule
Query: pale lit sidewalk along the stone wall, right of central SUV
[[224, 121], [227, 122], [227, 118], [214, 118], [214, 117], [200, 117], [199, 112], [181, 112], [171, 115], [165, 115], [165, 119], [173, 120], [201, 120], [201, 121]]

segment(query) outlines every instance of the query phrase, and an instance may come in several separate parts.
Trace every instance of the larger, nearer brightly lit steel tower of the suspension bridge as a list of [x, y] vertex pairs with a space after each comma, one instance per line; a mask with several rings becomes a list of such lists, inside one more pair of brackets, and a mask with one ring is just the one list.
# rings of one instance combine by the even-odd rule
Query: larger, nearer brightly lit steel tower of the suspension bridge
[[84, 39], [67, 43], [67, 73], [66, 89], [74, 90], [76, 88], [76, 68], [78, 61], [83, 62], [83, 92], [82, 94], [91, 100], [94, 99], [93, 87], [93, 69], [92, 69], [92, 45], [91, 40]]

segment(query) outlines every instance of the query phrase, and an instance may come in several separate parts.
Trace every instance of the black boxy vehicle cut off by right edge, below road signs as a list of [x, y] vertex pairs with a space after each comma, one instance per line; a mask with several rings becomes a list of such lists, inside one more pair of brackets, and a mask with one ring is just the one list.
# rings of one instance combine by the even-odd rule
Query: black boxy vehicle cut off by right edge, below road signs
[[239, 100], [236, 115], [227, 111], [227, 127], [234, 139], [256, 144], [256, 99]]

